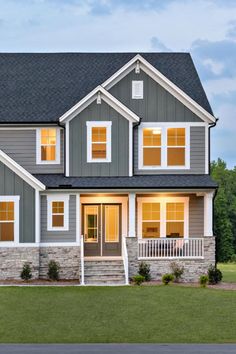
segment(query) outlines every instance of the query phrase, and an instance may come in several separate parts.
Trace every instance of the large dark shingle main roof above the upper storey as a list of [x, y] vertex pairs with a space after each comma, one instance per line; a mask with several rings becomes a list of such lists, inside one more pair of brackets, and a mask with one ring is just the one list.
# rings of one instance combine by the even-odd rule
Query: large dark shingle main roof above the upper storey
[[[0, 123], [56, 122], [136, 54], [0, 54]], [[212, 114], [188, 53], [140, 54]]]

